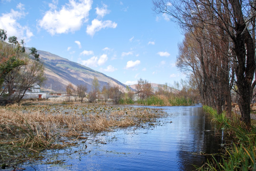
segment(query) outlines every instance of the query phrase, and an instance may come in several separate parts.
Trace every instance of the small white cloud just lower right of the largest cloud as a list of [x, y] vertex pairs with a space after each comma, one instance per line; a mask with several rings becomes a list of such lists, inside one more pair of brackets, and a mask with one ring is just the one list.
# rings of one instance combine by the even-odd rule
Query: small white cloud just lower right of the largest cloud
[[110, 20], [100, 21], [98, 19], [93, 19], [91, 25], [87, 26], [86, 32], [93, 37], [93, 35], [102, 28], [116, 28], [117, 26], [117, 23]]

